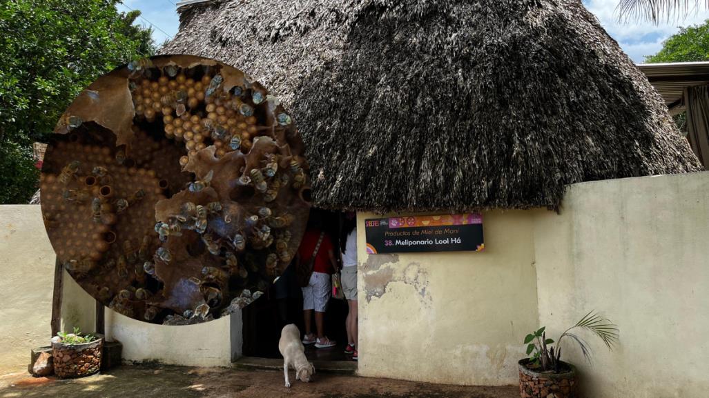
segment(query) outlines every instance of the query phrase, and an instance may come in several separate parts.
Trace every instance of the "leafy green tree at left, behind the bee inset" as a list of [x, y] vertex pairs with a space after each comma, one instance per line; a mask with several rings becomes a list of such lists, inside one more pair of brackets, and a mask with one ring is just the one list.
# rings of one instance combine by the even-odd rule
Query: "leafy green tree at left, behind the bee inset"
[[45, 140], [91, 81], [152, 55], [150, 30], [118, 0], [0, 0], [0, 203], [26, 203], [37, 186], [31, 145]]

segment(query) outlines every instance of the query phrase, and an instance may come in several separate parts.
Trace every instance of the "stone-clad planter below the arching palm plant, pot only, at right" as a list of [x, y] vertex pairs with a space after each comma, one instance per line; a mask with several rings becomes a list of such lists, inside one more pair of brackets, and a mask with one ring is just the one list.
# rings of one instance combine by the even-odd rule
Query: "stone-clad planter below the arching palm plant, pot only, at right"
[[537, 373], [527, 369], [529, 359], [519, 362], [521, 398], [577, 398], [576, 368], [570, 363], [566, 373]]

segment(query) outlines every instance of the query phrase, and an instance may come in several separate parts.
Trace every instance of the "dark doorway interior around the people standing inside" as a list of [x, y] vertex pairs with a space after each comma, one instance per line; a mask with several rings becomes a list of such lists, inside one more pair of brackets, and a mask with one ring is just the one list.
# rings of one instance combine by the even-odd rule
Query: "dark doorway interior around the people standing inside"
[[[320, 217], [320, 220], [323, 221], [323, 229], [326, 234], [329, 234], [335, 247], [337, 266], [341, 266], [340, 227], [342, 213], [313, 209], [311, 217]], [[292, 273], [291, 276], [286, 273], [281, 276], [281, 278], [288, 280], [286, 298], [279, 298], [284, 295], [283, 291], [277, 292], [276, 288], [272, 286], [266, 294], [242, 309], [242, 352], [244, 356], [282, 358], [278, 351], [278, 341], [281, 338], [283, 326], [296, 324], [301, 331], [301, 336], [304, 333], [303, 296], [294, 277], [294, 271], [294, 265], [291, 264], [286, 270], [286, 273]], [[330, 339], [337, 341], [337, 346], [331, 348], [306, 346], [308, 360], [352, 360], [344, 353], [347, 344], [347, 330], [345, 329], [347, 312], [346, 300], [330, 298], [328, 309], [325, 312], [325, 334]], [[314, 324], [313, 331], [315, 331]]]

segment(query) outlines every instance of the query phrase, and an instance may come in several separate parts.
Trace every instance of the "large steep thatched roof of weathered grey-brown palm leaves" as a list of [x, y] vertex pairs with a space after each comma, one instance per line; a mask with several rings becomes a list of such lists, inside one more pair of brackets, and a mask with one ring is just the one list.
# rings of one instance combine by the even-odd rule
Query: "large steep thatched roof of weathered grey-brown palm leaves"
[[569, 183], [698, 171], [579, 0], [215, 0], [166, 53], [249, 72], [294, 114], [316, 205], [557, 208]]

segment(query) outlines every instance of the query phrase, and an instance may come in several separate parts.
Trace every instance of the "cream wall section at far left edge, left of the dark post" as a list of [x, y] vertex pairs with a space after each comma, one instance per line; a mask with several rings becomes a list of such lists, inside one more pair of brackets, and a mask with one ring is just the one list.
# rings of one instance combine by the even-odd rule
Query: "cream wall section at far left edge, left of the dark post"
[[54, 265], [40, 207], [0, 205], [0, 374], [49, 343]]

